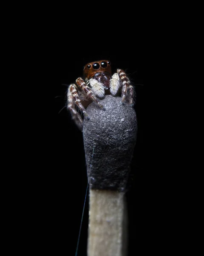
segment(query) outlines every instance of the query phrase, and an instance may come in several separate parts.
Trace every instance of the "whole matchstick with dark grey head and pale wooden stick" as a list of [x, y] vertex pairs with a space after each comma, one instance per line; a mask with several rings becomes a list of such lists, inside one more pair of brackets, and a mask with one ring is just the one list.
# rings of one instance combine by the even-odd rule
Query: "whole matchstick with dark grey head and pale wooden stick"
[[136, 142], [134, 108], [106, 95], [87, 108], [83, 142], [89, 181], [88, 256], [126, 256], [125, 192]]

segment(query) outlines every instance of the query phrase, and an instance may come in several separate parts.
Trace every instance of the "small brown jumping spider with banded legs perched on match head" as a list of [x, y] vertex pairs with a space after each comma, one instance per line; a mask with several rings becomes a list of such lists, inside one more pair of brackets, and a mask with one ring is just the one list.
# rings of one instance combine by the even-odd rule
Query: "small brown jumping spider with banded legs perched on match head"
[[134, 105], [134, 88], [126, 76], [124, 70], [117, 69], [112, 75], [111, 62], [108, 60], [94, 61], [83, 68], [84, 80], [79, 77], [75, 84], [70, 84], [67, 91], [67, 108], [72, 119], [80, 130], [83, 128], [83, 117], [77, 111], [83, 113], [84, 118], [89, 119], [86, 108], [91, 102], [96, 102], [99, 108], [105, 110], [99, 99], [104, 95], [112, 94], [121, 96], [121, 103], [127, 102]]

